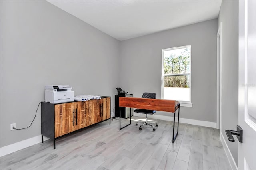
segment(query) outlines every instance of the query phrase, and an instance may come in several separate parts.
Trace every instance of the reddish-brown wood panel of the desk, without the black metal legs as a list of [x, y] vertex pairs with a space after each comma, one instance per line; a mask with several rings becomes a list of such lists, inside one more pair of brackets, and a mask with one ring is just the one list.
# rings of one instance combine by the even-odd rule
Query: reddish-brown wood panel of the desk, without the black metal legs
[[178, 103], [179, 102], [175, 100], [119, 97], [120, 107], [132, 107], [156, 111], [174, 112], [175, 105]]

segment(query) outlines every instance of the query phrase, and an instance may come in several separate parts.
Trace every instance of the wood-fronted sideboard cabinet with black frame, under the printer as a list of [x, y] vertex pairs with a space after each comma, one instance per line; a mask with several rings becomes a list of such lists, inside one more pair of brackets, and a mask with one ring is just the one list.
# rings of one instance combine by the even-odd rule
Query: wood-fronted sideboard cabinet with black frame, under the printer
[[42, 102], [41, 133], [54, 140], [90, 125], [110, 120], [110, 97], [69, 103]]

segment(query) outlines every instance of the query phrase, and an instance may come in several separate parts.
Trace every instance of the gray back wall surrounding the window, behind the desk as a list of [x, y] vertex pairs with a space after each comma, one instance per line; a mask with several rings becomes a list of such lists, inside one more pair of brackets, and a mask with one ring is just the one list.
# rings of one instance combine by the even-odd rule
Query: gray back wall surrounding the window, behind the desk
[[[208, 20], [121, 42], [122, 89], [141, 97], [161, 98], [162, 49], [191, 45], [193, 107], [181, 107], [180, 117], [216, 122], [216, 35], [218, 20]], [[160, 113], [160, 115], [170, 115]]]

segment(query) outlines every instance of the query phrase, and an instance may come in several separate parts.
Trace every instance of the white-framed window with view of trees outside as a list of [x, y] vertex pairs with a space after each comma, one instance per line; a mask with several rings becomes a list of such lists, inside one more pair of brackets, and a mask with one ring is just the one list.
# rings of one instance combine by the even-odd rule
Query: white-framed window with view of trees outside
[[162, 99], [191, 103], [190, 73], [191, 45], [162, 49]]

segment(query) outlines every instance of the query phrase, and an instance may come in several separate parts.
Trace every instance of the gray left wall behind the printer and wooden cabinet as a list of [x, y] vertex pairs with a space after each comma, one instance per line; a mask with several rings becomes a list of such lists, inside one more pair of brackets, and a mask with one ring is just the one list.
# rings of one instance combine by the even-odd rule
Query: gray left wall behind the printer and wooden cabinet
[[[109, 95], [118, 86], [120, 42], [46, 1], [1, 1], [1, 147], [41, 134], [45, 85], [75, 95]], [[40, 108], [40, 107], [39, 107]]]

